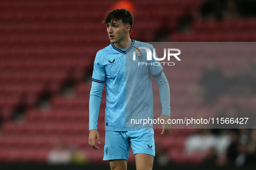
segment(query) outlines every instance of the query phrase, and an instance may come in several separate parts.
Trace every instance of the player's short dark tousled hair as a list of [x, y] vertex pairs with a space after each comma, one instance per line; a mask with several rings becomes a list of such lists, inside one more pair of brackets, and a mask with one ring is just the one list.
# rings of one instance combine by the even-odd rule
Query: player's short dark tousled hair
[[[130, 32], [133, 28], [133, 14], [127, 9], [114, 9], [113, 11], [107, 14], [107, 18], [102, 22], [103, 24], [110, 23], [111, 21], [119, 21], [122, 20], [124, 24], [131, 25]], [[129, 33], [130, 33], [129, 32]]]

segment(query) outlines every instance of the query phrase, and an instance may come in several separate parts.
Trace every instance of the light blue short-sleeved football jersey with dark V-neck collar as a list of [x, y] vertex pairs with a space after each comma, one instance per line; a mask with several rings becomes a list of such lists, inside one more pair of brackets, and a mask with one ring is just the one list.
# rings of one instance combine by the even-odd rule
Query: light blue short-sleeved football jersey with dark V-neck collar
[[[133, 60], [133, 49], [139, 46], [148, 47], [153, 54], [152, 45], [135, 42], [132, 39], [132, 43], [126, 51], [110, 44], [99, 50], [95, 57], [92, 81], [106, 84], [106, 131], [127, 131], [127, 128], [137, 128], [134, 126], [126, 127], [126, 121], [130, 121], [126, 120], [128, 118], [153, 118], [151, 76], [160, 75], [163, 69], [161, 64], [159, 66], [147, 64], [138, 67], [139, 61], [159, 62], [153, 57], [152, 61], [146, 61], [146, 57], [141, 58], [142, 56], [139, 55], [136, 57], [136, 61]], [[144, 53], [144, 56], [146, 55], [146, 50], [140, 51]], [[97, 126], [97, 118], [98, 116], [90, 113], [89, 129], [97, 129], [95, 127]]]

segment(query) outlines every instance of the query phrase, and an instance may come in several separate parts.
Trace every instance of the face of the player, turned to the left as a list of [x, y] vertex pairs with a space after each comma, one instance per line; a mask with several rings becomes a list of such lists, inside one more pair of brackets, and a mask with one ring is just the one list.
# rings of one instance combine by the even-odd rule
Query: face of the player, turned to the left
[[110, 23], [107, 23], [107, 33], [110, 39], [110, 43], [120, 43], [121, 41], [125, 40], [127, 25], [125, 25], [122, 20], [112, 20]]

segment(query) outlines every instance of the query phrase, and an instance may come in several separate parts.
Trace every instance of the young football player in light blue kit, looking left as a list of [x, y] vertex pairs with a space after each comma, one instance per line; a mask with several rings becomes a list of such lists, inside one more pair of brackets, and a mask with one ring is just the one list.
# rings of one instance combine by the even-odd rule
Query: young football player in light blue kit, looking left
[[[154, 131], [152, 126], [145, 129], [126, 128], [126, 119], [128, 119], [126, 112], [129, 112], [129, 118], [134, 117], [135, 113], [136, 115], [142, 113], [141, 115], [148, 114], [146, 116], [152, 119], [151, 76], [153, 76], [159, 86], [162, 105], [162, 115], [159, 119], [167, 122], [170, 118], [169, 83], [161, 65], [158, 67], [153, 65], [138, 67], [140, 70], [126, 67], [126, 64], [128, 64], [126, 63], [128, 62], [126, 60], [126, 53], [129, 51], [131, 53], [132, 49], [136, 50], [135, 43], [143, 44], [130, 38], [129, 34], [133, 27], [132, 13], [126, 9], [115, 9], [107, 15], [103, 23], [107, 25], [107, 33], [111, 44], [99, 50], [94, 61], [93, 82], [89, 102], [89, 145], [94, 149], [99, 149], [95, 144], [95, 139], [100, 144], [97, 120], [100, 110], [101, 94], [104, 83], [106, 83], [106, 135], [103, 160], [110, 161], [111, 170], [126, 170], [131, 146], [136, 160], [136, 169], [152, 170], [155, 156]], [[127, 48], [126, 42], [128, 43]], [[152, 50], [152, 45], [147, 44], [147, 47]], [[140, 57], [142, 57], [142, 54]], [[138, 60], [141, 59], [139, 58]], [[143, 80], [143, 82], [138, 80]], [[136, 85], [133, 85], [133, 83], [136, 83]], [[142, 91], [140, 89], [143, 89], [145, 92], [136, 92], [135, 94], [136, 90]], [[144, 97], [136, 97], [134, 99], [134, 96]], [[134, 102], [135, 100], [136, 102]], [[130, 106], [129, 104], [132, 105]], [[171, 132], [170, 124], [163, 124], [161, 135], [165, 135], [168, 131]]]

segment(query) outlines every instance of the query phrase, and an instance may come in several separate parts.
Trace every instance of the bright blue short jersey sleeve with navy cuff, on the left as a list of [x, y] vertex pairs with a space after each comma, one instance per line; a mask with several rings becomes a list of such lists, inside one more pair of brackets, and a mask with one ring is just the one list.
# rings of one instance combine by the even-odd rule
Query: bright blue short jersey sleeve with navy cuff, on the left
[[97, 52], [95, 60], [94, 60], [94, 68], [92, 73], [92, 81], [97, 83], [104, 83], [105, 82], [105, 69], [103, 66], [103, 63], [101, 62], [101, 54], [100, 52]]

